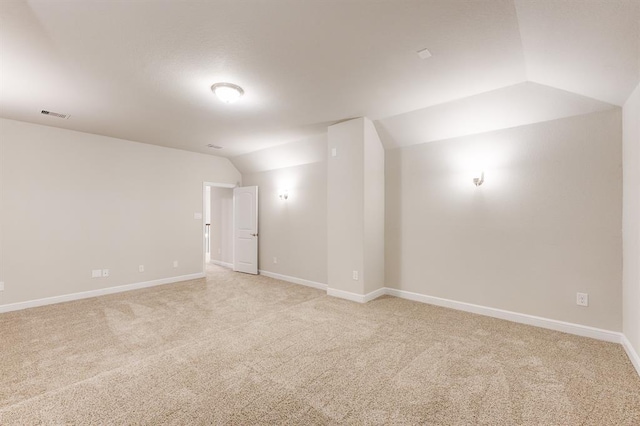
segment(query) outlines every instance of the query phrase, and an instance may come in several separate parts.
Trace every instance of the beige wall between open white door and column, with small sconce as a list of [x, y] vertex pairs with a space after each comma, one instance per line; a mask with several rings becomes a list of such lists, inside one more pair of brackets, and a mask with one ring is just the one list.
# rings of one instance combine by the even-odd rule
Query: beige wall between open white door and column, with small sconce
[[[324, 139], [317, 143], [326, 146]], [[282, 147], [278, 147], [278, 151], [286, 153]], [[326, 156], [319, 162], [243, 174], [243, 185], [257, 185], [260, 194], [259, 269], [327, 283], [325, 160]], [[288, 200], [278, 198], [282, 189], [288, 189]], [[273, 262], [274, 257], [278, 263]]]

